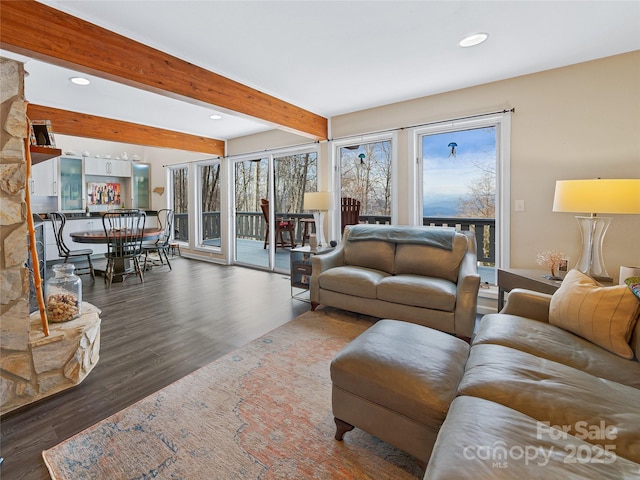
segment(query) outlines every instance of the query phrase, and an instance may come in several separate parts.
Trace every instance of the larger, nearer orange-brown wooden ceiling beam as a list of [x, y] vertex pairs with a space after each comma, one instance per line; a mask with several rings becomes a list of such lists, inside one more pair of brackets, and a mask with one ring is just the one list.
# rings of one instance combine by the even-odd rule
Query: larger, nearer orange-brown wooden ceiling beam
[[34, 0], [2, 2], [0, 46], [317, 140], [328, 136], [320, 115]]

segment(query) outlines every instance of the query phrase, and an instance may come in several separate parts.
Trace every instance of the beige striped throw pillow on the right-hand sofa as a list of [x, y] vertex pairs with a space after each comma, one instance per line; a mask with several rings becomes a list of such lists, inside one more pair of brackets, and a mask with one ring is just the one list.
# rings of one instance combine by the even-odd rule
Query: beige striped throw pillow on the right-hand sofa
[[602, 287], [571, 270], [551, 297], [549, 323], [632, 359], [629, 340], [639, 314], [640, 301], [626, 285]]

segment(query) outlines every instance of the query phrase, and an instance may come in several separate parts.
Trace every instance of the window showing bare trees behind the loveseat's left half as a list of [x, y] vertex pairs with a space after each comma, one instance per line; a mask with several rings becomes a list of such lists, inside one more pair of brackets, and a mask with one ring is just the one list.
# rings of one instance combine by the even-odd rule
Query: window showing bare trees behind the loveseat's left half
[[360, 202], [360, 221], [391, 223], [391, 147], [386, 139], [338, 149], [340, 196]]

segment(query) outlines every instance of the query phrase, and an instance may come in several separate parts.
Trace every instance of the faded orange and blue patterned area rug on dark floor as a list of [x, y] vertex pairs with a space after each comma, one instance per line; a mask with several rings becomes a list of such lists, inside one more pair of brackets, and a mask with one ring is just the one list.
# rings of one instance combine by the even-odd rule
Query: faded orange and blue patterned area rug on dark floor
[[333, 437], [331, 359], [372, 322], [307, 312], [45, 450], [51, 478], [420, 478], [359, 429]]

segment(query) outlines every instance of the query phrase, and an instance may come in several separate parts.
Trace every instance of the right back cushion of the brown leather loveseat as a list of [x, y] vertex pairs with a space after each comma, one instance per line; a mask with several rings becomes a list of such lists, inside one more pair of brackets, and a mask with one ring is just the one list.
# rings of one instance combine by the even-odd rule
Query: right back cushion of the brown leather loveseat
[[456, 233], [451, 251], [428, 245], [399, 243], [396, 247], [394, 271], [426, 277], [445, 278], [451, 282], [458, 280], [460, 262], [467, 253], [467, 237]]

